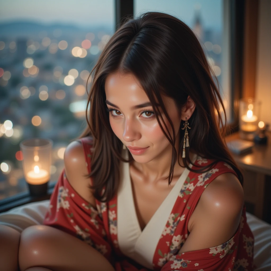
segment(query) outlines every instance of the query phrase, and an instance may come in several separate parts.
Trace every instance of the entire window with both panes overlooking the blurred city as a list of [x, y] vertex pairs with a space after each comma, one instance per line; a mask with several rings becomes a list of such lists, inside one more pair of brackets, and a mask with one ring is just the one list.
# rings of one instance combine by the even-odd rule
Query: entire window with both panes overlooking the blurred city
[[243, 5], [231, 0], [3, 2], [0, 200], [28, 190], [19, 147], [24, 139], [53, 140], [51, 182], [58, 179], [64, 149], [86, 126], [86, 78], [114, 33], [116, 21], [133, 9], [134, 15], [166, 12], [195, 31], [217, 75], [227, 120], [236, 123], [233, 109], [238, 108], [241, 89]]

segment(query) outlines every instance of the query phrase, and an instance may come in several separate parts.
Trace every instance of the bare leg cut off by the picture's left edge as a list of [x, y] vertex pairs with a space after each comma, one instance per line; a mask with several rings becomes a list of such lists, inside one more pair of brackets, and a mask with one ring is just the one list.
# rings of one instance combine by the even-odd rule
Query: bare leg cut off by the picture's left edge
[[0, 269], [18, 270], [20, 233], [6, 225], [0, 225]]

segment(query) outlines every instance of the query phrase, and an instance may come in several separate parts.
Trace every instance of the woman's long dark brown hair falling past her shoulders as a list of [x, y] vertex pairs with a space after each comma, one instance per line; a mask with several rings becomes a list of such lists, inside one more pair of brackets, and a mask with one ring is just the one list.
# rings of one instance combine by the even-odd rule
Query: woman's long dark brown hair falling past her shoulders
[[[188, 165], [192, 162], [186, 155], [182, 158], [185, 167], [194, 172], [206, 172], [217, 161], [224, 161], [233, 167], [243, 183], [243, 176], [223, 139], [226, 121], [223, 124], [220, 107], [224, 115], [225, 108], [201, 44], [191, 28], [178, 18], [162, 12], [146, 12], [135, 19], [129, 18], [112, 35], [89, 75], [90, 78], [94, 72], [86, 110], [88, 127], [79, 138], [93, 138], [91, 173], [88, 177], [93, 180], [93, 186], [89, 185], [89, 188], [94, 189], [96, 199], [108, 202], [116, 195], [120, 183], [120, 161], [133, 160], [130, 152], [128, 161], [122, 158], [122, 142], [112, 131], [106, 111], [105, 79], [117, 71], [132, 73], [139, 80], [153, 106], [161, 130], [172, 145], [169, 185], [174, 165], [180, 157], [179, 153], [182, 153], [184, 130], [179, 131], [180, 147], [177, 154], [173, 122], [161, 94], [174, 99], [180, 109], [186, 104], [188, 95], [196, 105], [189, 119], [190, 146], [201, 157], [213, 161], [208, 166], [190, 169]], [[172, 134], [166, 127], [159, 106], [172, 127]], [[189, 148], [186, 148], [186, 153]]]

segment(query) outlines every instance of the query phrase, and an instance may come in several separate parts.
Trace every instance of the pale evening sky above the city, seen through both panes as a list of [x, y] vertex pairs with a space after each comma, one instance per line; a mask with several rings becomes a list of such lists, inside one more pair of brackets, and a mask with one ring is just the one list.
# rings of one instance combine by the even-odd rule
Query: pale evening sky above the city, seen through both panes
[[[0, 22], [37, 21], [44, 24], [69, 23], [78, 26], [115, 24], [115, 0], [0, 0]], [[189, 26], [195, 7], [201, 7], [204, 27], [219, 29], [222, 0], [134, 0], [134, 14], [160, 11], [171, 14]]]

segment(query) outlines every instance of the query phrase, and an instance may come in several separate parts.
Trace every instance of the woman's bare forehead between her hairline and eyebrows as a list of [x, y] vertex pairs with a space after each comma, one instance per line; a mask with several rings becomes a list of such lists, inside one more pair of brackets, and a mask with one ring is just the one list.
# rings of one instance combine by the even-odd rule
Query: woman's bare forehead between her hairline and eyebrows
[[149, 101], [140, 82], [131, 73], [125, 75], [119, 72], [109, 74], [105, 80], [105, 95], [109, 100], [121, 98], [122, 101], [127, 102]]

